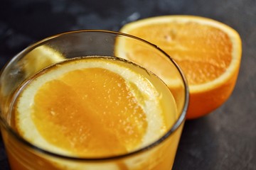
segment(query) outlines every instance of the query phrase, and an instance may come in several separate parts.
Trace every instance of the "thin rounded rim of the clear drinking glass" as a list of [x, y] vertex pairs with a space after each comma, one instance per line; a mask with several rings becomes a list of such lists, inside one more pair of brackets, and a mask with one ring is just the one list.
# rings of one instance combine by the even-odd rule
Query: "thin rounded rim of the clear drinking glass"
[[[60, 158], [60, 159], [69, 159], [69, 160], [83, 161], [83, 162], [86, 162], [86, 161], [88, 161], [88, 162], [108, 161], [108, 160], [113, 160], [113, 159], [122, 159], [124, 157], [130, 157], [132, 155], [136, 155], [136, 154], [145, 152], [146, 150], [149, 150], [153, 147], [156, 147], [156, 146], [160, 145], [161, 142], [163, 142], [169, 136], [171, 136], [181, 126], [183, 121], [186, 120], [186, 111], [188, 109], [189, 93], [188, 93], [188, 83], [186, 81], [186, 77], [183, 74], [181, 68], [178, 66], [178, 64], [166, 52], [164, 52], [164, 50], [161, 50], [161, 48], [159, 48], [157, 45], [154, 45], [153, 43], [151, 43], [149, 41], [143, 40], [142, 38], [138, 38], [134, 35], [129, 35], [127, 33], [121, 33], [121, 32], [112, 31], [112, 30], [72, 30], [72, 31], [64, 32], [64, 33], [58, 33], [58, 34], [55, 34], [55, 35], [51, 35], [48, 38], [43, 38], [42, 40], [34, 42], [31, 45], [28, 45], [28, 47], [26, 47], [24, 50], [22, 50], [21, 52], [18, 52], [17, 55], [14, 55], [14, 57], [11, 60], [9, 60], [9, 62], [7, 62], [4, 65], [4, 67], [1, 69], [0, 77], [3, 73], [3, 71], [7, 67], [9, 67], [9, 64], [11, 64], [12, 61], [14, 61], [16, 59], [16, 57], [22, 55], [23, 53], [29, 52], [30, 50], [33, 50], [35, 47], [38, 47], [38, 45], [41, 45], [43, 42], [47, 42], [48, 40], [58, 38], [62, 35], [68, 35], [68, 34], [73, 34], [73, 33], [108, 33], [108, 34], [113, 34], [113, 35], [121, 35], [121, 36], [124, 36], [124, 37], [129, 37], [129, 38], [132, 38], [134, 40], [144, 42], [144, 43], [150, 45], [151, 47], [156, 48], [156, 50], [159, 50], [159, 52], [163, 53], [166, 57], [169, 58], [169, 60], [171, 60], [171, 62], [174, 64], [176, 69], [178, 69], [178, 72], [181, 75], [183, 85], [184, 85], [184, 93], [185, 93], [185, 98], [184, 98], [185, 101], [183, 103], [183, 108], [182, 108], [181, 114], [178, 116], [177, 120], [174, 122], [174, 125], [172, 125], [171, 128], [166, 133], [164, 133], [164, 135], [159, 137], [158, 140], [155, 140], [154, 142], [151, 142], [149, 145], [146, 145], [142, 148], [139, 148], [139, 149], [136, 149], [132, 152], [128, 152], [128, 153], [124, 153], [124, 154], [119, 154], [119, 155], [114, 155], [114, 156], [107, 156], [107, 157], [92, 157], [92, 158], [90, 158], [90, 157], [73, 157], [73, 156], [58, 154], [58, 153], [50, 152], [50, 151], [48, 151], [46, 149], [43, 149], [41, 147], [38, 147], [36, 145], [33, 145], [31, 142], [28, 142], [23, 137], [21, 137], [21, 135], [18, 135], [18, 133], [15, 132], [13, 130], [13, 128], [11, 128], [11, 126], [9, 125], [9, 123], [7, 123], [5, 118], [2, 117], [2, 114], [1, 114], [1, 111], [0, 111], [0, 122], [1, 122], [1, 124], [4, 126], [4, 128], [7, 132], [11, 133], [11, 135], [15, 138], [15, 140], [18, 140], [18, 142], [21, 142], [26, 147], [29, 147], [31, 149], [35, 149], [36, 152], [39, 152], [41, 154], [46, 154], [50, 157], [57, 157], [57, 158]], [[0, 125], [0, 128], [1, 128], [1, 125]]]

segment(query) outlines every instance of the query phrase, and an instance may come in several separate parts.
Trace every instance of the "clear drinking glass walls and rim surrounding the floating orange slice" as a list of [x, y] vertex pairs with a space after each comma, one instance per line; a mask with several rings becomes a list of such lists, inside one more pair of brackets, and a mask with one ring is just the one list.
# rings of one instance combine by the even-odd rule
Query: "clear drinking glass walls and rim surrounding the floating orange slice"
[[[129, 49], [124, 46], [139, 47], [142, 52], [135, 52], [129, 56]], [[121, 46], [120, 46], [121, 45]], [[118, 50], [119, 49], [119, 50]], [[120, 50], [121, 49], [121, 50]], [[130, 48], [131, 50], [131, 48]], [[142, 56], [142, 53], [144, 54]], [[145, 53], [148, 54], [145, 57]], [[57, 55], [55, 60], [46, 62], [49, 55]], [[32, 77], [36, 72], [50, 64], [75, 57], [110, 56], [121, 57], [134, 62], [141, 67], [155, 73], [169, 86], [174, 96], [178, 115], [168, 131], [145, 147], [126, 154], [111, 157], [70, 157], [50, 152], [25, 140], [11, 126], [11, 102], [18, 87]], [[29, 60], [28, 60], [29, 58]], [[54, 58], [54, 56], [53, 56]], [[161, 64], [157, 61], [162, 60]], [[168, 68], [168, 72], [159, 74], [159, 70]], [[173, 79], [173, 81], [171, 81]], [[169, 82], [167, 82], [169, 81]], [[59, 169], [51, 160], [66, 162], [70, 167], [80, 169], [171, 169], [174, 164], [178, 141], [188, 107], [188, 86], [180, 67], [163, 50], [156, 45], [140, 38], [124, 33], [107, 30], [78, 30], [60, 33], [30, 45], [14, 56], [1, 70], [0, 74], [0, 106], [1, 106], [1, 135], [4, 140], [9, 164], [13, 170], [23, 169]], [[169, 101], [165, 101], [168, 103]], [[166, 113], [172, 114], [172, 113]], [[173, 116], [167, 116], [171, 118]], [[76, 169], [76, 168], [67, 169]]]

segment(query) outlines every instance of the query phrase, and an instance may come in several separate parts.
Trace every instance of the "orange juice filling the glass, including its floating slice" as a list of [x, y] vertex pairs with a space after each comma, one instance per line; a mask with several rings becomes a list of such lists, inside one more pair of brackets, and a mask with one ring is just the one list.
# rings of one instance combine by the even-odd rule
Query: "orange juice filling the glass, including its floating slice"
[[24, 82], [12, 101], [9, 123], [23, 141], [3, 131], [13, 170], [164, 170], [174, 162], [182, 128], [164, 137], [179, 116], [174, 96], [132, 62], [65, 60]]

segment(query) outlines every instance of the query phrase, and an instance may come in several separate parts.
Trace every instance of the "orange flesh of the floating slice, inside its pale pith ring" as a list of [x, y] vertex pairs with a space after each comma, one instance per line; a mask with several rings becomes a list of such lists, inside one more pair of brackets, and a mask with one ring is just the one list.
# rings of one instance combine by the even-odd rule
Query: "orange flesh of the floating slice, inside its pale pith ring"
[[32, 119], [51, 144], [86, 157], [126, 153], [141, 144], [146, 114], [125, 80], [107, 69], [68, 72], [41, 86]]

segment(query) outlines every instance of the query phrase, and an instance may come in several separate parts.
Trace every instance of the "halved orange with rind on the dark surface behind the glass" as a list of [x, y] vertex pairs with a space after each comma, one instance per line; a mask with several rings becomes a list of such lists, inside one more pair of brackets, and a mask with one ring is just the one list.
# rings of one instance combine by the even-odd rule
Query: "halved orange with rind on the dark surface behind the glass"
[[[120, 32], [159, 46], [179, 64], [190, 92], [188, 119], [214, 111], [232, 94], [242, 53], [240, 36], [233, 28], [199, 16], [158, 16], [128, 23]], [[117, 51], [129, 51], [130, 55], [123, 57], [136, 62], [139, 49], [127, 44], [122, 42]], [[149, 54], [139, 51], [143, 53], [147, 63]], [[149, 64], [154, 63], [159, 64], [155, 74], [164, 81], [169, 79], [166, 84], [172, 86], [171, 77], [164, 75], [169, 71], [161, 67], [164, 62]]]

